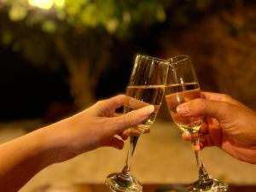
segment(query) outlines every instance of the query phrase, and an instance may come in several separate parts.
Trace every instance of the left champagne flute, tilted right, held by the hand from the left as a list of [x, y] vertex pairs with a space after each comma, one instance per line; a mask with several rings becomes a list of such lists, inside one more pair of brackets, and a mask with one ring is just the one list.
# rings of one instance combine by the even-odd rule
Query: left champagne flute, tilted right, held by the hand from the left
[[137, 55], [126, 87], [124, 113], [147, 105], [154, 105], [151, 113], [142, 124], [130, 128], [130, 148], [122, 172], [108, 175], [106, 185], [113, 192], [141, 192], [142, 184], [130, 175], [131, 157], [141, 133], [146, 133], [154, 123], [160, 104], [165, 95], [166, 77], [169, 62], [147, 55]]

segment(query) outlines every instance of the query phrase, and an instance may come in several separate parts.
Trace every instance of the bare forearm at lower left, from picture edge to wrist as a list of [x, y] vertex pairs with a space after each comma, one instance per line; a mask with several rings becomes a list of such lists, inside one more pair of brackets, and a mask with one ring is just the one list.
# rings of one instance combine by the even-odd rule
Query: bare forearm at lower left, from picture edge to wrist
[[[15, 192], [45, 166], [55, 162], [52, 149], [38, 130], [0, 145], [0, 189]], [[52, 154], [52, 155], [51, 155]]]

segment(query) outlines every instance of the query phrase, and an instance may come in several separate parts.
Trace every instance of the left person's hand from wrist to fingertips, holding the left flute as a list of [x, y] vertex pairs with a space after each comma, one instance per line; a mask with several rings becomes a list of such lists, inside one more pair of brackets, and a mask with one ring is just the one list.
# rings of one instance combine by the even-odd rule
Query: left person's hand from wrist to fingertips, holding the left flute
[[49, 125], [45, 131], [48, 137], [51, 136], [48, 139], [49, 145], [60, 151], [57, 161], [103, 146], [123, 148], [124, 142], [115, 136], [119, 134], [125, 139], [127, 136], [122, 134], [123, 131], [143, 122], [154, 112], [154, 106], [148, 105], [123, 115], [115, 113], [124, 104], [125, 95], [114, 96], [96, 102], [73, 117]]

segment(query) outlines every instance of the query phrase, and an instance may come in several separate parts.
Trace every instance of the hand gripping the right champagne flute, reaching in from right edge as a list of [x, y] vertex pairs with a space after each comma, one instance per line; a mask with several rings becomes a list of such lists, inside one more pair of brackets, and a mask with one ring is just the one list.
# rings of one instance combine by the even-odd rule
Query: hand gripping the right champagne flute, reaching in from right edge
[[[184, 117], [204, 116], [201, 148], [218, 146], [236, 159], [256, 164], [256, 113], [230, 96], [202, 92], [202, 99], [177, 107]], [[183, 139], [189, 137], [183, 134]]]

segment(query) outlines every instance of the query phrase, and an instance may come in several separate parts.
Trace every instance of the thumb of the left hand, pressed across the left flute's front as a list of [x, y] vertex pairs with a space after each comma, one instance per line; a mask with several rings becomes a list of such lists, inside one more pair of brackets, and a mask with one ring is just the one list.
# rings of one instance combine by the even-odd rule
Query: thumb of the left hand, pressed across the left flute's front
[[116, 132], [124, 131], [127, 128], [138, 125], [147, 119], [150, 113], [154, 112], [154, 106], [148, 105], [144, 108], [133, 110], [129, 113], [113, 118]]

